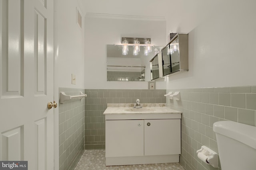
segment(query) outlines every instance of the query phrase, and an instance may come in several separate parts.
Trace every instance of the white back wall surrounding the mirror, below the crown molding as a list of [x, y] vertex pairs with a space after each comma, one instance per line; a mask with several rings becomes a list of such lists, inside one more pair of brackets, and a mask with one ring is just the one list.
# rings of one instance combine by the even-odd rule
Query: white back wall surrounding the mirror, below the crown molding
[[[121, 43], [121, 37], [151, 38], [154, 45], [166, 45], [166, 21], [103, 17], [92, 14], [85, 17], [85, 88], [148, 89], [148, 82], [107, 82], [106, 45]], [[165, 86], [163, 82], [156, 84], [157, 89]]]

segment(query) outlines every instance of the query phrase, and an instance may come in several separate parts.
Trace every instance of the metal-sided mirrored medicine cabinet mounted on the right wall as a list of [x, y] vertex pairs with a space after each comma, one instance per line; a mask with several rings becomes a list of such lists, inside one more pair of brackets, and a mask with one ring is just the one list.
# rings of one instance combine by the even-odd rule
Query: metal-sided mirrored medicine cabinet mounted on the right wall
[[162, 48], [162, 74], [188, 71], [188, 34], [172, 33], [171, 40]]

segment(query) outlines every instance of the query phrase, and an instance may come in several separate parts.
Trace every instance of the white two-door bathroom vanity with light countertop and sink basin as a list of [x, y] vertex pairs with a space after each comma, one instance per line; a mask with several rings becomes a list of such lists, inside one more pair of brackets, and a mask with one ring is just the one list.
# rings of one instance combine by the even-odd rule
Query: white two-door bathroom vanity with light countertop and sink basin
[[179, 162], [181, 112], [165, 106], [127, 108], [108, 107], [104, 112], [106, 166]]

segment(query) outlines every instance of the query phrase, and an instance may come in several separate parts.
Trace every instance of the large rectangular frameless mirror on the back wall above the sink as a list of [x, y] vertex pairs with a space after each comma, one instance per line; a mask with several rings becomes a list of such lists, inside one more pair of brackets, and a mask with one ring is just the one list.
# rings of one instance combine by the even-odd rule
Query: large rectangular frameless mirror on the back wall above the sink
[[128, 46], [128, 55], [122, 55], [122, 45], [107, 45], [107, 81], [150, 81], [150, 59], [162, 47], [152, 47], [144, 56], [140, 47], [139, 55], [132, 55], [133, 47]]

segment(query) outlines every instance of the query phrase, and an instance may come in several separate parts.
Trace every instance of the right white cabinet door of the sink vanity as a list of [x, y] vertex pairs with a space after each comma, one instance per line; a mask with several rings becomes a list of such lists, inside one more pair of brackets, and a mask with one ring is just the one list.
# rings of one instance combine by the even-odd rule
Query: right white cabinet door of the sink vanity
[[144, 120], [144, 154], [180, 154], [180, 119]]

